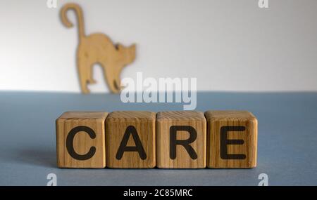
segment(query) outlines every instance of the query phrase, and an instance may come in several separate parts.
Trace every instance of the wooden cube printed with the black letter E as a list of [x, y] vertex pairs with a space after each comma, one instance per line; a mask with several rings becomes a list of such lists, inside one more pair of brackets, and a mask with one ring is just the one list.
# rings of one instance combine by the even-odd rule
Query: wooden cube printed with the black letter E
[[256, 167], [258, 121], [247, 111], [207, 111], [207, 167]]

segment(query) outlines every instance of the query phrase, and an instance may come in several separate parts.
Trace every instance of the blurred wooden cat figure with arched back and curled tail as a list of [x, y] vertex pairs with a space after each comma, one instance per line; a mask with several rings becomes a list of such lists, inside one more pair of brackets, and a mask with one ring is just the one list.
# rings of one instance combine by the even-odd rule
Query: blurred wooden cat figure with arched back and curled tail
[[99, 63], [104, 68], [104, 77], [113, 93], [120, 92], [120, 72], [126, 65], [135, 60], [135, 44], [125, 47], [113, 45], [111, 39], [104, 34], [85, 35], [82, 8], [77, 4], [66, 4], [61, 8], [61, 20], [66, 27], [73, 27], [67, 18], [67, 11], [73, 10], [77, 16], [79, 44], [77, 48], [77, 68], [82, 93], [89, 93], [87, 84], [94, 84], [92, 67]]

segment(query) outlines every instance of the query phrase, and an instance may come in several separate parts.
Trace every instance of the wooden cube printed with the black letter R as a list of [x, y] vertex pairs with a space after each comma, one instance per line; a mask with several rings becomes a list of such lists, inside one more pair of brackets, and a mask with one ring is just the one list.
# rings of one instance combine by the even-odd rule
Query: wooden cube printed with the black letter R
[[206, 168], [206, 119], [202, 112], [159, 112], [156, 116], [159, 168]]

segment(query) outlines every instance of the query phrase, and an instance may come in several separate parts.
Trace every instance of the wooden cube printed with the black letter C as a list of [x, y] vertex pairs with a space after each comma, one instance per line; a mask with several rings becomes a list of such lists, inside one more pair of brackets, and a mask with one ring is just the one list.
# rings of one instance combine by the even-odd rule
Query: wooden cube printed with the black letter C
[[105, 168], [106, 112], [65, 112], [56, 119], [59, 168]]

